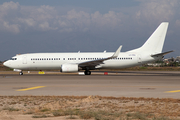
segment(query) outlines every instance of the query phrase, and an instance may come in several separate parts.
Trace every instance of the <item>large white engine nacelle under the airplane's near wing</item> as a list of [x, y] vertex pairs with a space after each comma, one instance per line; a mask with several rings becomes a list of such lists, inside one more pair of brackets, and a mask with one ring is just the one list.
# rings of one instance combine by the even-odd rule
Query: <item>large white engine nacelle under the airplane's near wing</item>
[[62, 64], [61, 65], [61, 72], [78, 72], [78, 64]]

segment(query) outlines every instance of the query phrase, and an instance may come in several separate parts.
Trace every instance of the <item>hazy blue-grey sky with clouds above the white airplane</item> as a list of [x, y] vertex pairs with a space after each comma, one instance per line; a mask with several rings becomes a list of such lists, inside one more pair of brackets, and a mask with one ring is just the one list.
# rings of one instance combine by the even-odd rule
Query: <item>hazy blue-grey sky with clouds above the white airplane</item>
[[163, 51], [179, 56], [179, 0], [1, 0], [0, 61], [19, 53], [140, 47], [169, 22]]

